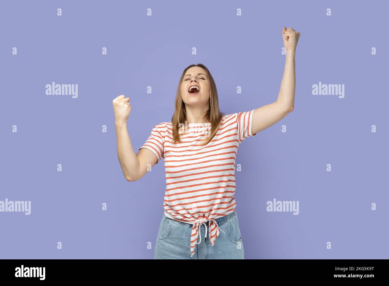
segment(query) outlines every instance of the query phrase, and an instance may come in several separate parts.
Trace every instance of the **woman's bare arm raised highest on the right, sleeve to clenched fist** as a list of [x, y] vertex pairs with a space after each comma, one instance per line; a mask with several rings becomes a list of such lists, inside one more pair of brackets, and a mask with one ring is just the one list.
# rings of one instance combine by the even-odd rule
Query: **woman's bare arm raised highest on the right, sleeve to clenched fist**
[[252, 134], [272, 126], [294, 109], [294, 91], [296, 89], [295, 55], [299, 37], [300, 33], [292, 28], [282, 28], [286, 59], [280, 92], [275, 102], [258, 107], [253, 111]]

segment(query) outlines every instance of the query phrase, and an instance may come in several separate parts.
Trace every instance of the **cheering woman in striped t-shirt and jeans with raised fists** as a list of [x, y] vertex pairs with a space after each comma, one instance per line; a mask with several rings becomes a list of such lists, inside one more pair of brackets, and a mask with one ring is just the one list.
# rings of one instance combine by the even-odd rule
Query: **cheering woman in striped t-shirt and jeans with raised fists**
[[126, 125], [130, 98], [120, 95], [113, 100], [117, 156], [126, 179], [139, 180], [164, 158], [165, 210], [155, 259], [244, 259], [235, 212], [235, 159], [240, 142], [293, 111], [300, 33], [283, 27], [282, 37], [286, 63], [272, 104], [223, 115], [208, 68], [190, 65], [179, 82], [172, 121], [154, 126], [135, 154]]

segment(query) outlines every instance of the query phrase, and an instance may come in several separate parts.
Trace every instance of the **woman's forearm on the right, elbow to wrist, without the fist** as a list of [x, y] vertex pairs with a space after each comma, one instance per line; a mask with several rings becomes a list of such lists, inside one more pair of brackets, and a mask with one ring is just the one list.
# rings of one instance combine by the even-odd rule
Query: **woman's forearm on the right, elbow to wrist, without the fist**
[[284, 75], [280, 86], [280, 93], [277, 98], [286, 110], [291, 111], [294, 108], [294, 92], [296, 90], [296, 63], [295, 52], [287, 51], [285, 59]]

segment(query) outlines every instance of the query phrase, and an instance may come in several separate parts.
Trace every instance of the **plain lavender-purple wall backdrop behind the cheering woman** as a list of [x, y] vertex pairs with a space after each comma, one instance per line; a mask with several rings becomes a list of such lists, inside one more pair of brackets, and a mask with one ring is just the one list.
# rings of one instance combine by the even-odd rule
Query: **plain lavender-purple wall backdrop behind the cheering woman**
[[[190, 64], [210, 69], [224, 114], [270, 104], [284, 71], [282, 26], [301, 33], [296, 99], [292, 113], [238, 151], [245, 258], [389, 258], [387, 8], [368, 1], [2, 2], [0, 200], [30, 200], [32, 213], [0, 212], [0, 258], [153, 258], [163, 161], [126, 181], [112, 100], [130, 97], [135, 152], [153, 126], [171, 120]], [[46, 95], [52, 81], [78, 84], [78, 98]], [[345, 84], [345, 97], [312, 95], [319, 81]], [[273, 198], [298, 200], [300, 214], [267, 212]]]

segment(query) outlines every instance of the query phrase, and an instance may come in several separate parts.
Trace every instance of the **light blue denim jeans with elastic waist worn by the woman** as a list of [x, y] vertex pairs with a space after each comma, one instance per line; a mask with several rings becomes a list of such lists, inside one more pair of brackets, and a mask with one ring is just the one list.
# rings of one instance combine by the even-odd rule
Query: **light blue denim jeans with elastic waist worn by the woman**
[[[215, 220], [220, 233], [214, 246], [211, 246], [208, 236], [205, 238], [205, 226], [200, 225], [202, 239], [196, 244], [195, 254], [191, 257], [190, 239], [193, 225], [163, 215], [159, 224], [154, 259], [244, 259], [237, 212]], [[207, 228], [208, 226], [209, 221]]]

